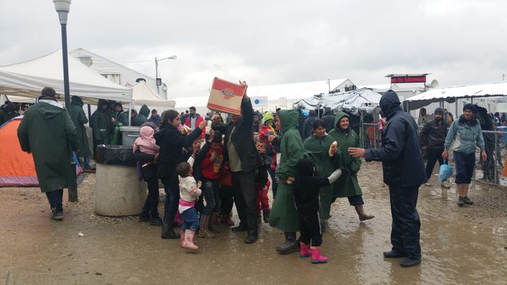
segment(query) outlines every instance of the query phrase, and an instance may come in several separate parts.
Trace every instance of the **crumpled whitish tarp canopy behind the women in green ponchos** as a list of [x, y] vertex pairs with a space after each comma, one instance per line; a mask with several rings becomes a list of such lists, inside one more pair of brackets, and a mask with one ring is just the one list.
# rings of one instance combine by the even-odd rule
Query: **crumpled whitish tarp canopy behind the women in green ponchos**
[[373, 113], [377, 108], [382, 95], [368, 88], [361, 88], [344, 93], [327, 94], [301, 99], [294, 103], [294, 107], [304, 108], [331, 108], [336, 111], [346, 111], [353, 115], [359, 115], [359, 111]]

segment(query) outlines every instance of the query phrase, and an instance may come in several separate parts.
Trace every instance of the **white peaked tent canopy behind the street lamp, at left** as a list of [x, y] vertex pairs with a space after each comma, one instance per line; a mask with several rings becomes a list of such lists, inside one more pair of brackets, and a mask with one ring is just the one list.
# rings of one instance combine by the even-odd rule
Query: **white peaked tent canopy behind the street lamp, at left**
[[[99, 73], [68, 56], [70, 96], [130, 102], [132, 89], [107, 80]], [[53, 87], [63, 99], [62, 51], [24, 63], [0, 66], [0, 94], [37, 98], [44, 87]], [[84, 100], [87, 103], [87, 100]]]

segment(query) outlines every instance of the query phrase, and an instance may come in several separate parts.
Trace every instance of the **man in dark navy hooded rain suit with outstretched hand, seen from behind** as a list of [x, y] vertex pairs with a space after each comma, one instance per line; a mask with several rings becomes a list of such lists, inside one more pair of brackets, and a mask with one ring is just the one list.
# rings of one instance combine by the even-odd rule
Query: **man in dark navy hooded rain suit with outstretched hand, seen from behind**
[[420, 184], [427, 182], [423, 156], [415, 120], [403, 112], [396, 92], [389, 90], [380, 99], [387, 125], [382, 129], [382, 147], [349, 148], [353, 157], [366, 161], [382, 161], [384, 183], [389, 186], [391, 199], [392, 250], [384, 258], [405, 258], [402, 267], [418, 265], [420, 253], [420, 219], [415, 209]]

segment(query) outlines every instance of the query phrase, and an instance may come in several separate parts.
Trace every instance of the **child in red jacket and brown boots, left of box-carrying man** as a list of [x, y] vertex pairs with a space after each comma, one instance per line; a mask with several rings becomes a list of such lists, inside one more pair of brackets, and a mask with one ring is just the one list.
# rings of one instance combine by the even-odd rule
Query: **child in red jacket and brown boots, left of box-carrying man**
[[220, 196], [218, 196], [218, 179], [220, 179], [220, 167], [223, 163], [222, 153], [222, 134], [220, 132], [210, 132], [210, 137], [203, 150], [206, 156], [201, 163], [201, 172], [203, 178], [203, 191], [206, 206], [202, 210], [201, 223], [199, 224], [199, 237], [209, 239], [215, 238], [215, 234], [210, 232], [210, 221], [216, 220], [218, 209], [220, 209]]

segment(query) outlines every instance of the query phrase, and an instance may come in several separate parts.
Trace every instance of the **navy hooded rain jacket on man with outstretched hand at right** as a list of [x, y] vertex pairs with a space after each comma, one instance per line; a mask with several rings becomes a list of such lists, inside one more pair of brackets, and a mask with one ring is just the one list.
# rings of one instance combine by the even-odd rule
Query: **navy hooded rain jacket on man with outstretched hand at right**
[[384, 183], [395, 187], [420, 186], [427, 182], [415, 120], [403, 112], [396, 92], [389, 90], [380, 99], [387, 125], [382, 129], [382, 147], [365, 151], [366, 161], [382, 161]]

